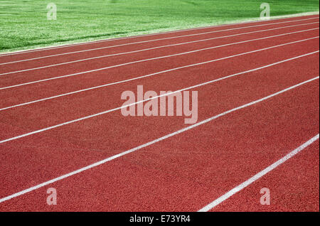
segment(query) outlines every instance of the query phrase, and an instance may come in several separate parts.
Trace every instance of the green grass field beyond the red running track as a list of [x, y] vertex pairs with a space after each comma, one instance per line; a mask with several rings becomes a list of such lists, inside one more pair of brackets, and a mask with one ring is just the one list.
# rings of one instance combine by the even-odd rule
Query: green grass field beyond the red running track
[[245, 21], [262, 2], [271, 16], [319, 11], [318, 0], [0, 0], [0, 51]]

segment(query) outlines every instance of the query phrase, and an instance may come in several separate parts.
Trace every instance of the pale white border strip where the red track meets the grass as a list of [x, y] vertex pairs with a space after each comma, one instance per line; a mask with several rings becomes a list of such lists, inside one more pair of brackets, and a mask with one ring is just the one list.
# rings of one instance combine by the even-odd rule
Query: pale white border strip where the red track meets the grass
[[176, 31], [149, 33], [149, 34], [142, 34], [142, 35], [137, 35], [137, 36], [102, 39], [102, 40], [97, 40], [97, 41], [84, 41], [84, 42], [61, 44], [61, 45], [51, 45], [51, 46], [49, 45], [49, 46], [44, 46], [44, 47], [39, 47], [39, 48], [30, 48], [28, 50], [16, 50], [13, 52], [2, 53], [2, 54], [0, 54], [0, 58], [2, 56], [7, 56], [7, 55], [18, 55], [18, 54], [23, 54], [23, 53], [32, 53], [32, 52], [38, 52], [38, 51], [43, 51], [43, 50], [52, 50], [52, 49], [56, 49], [56, 48], [68, 48], [68, 47], [73, 47], [73, 46], [77, 46], [77, 45], [90, 45], [90, 44], [95, 44], [95, 43], [119, 41], [119, 40], [130, 39], [130, 38], [143, 38], [143, 37], [147, 37], [147, 36], [159, 36], [159, 35], [165, 35], [168, 33], [179, 33], [179, 32], [194, 31], [194, 30], [199, 30], [199, 29], [219, 28], [219, 27], [223, 27], [223, 26], [235, 26], [235, 25], [241, 25], [241, 24], [247, 24], [247, 23], [263, 23], [263, 22], [269, 22], [269, 21], [282, 21], [282, 20], [287, 20], [287, 19], [289, 20], [289, 19], [294, 19], [294, 18], [302, 18], [304, 16], [315, 16], [315, 15], [318, 15], [318, 17], [314, 17], [314, 18], [319, 18], [319, 11], [302, 13], [302, 14], [290, 14], [290, 15], [284, 15], [284, 16], [272, 16], [272, 18], [267, 21], [260, 20], [260, 18], [249, 18], [247, 21], [240, 21], [240, 22], [230, 21], [230, 23], [225, 23], [225, 24], [220, 24], [220, 25], [203, 26], [203, 27], [198, 27], [198, 28], [189, 28], [189, 29], [182, 29], [182, 30], [176, 30]]

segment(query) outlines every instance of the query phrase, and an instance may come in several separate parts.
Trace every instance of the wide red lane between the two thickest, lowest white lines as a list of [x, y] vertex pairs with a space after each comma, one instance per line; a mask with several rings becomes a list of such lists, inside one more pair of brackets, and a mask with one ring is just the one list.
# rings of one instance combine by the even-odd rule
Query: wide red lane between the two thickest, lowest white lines
[[[271, 73], [265, 71], [264, 75]], [[255, 83], [249, 78], [242, 85]], [[224, 87], [233, 90], [233, 82]], [[269, 87], [269, 94], [271, 90]], [[208, 112], [217, 108], [207, 106]], [[196, 211], [316, 134], [319, 80], [7, 200], [0, 210]], [[315, 151], [311, 154], [316, 158]], [[299, 165], [307, 163], [298, 159]], [[279, 174], [273, 176], [279, 178]], [[57, 189], [58, 205], [46, 204], [48, 188]], [[287, 188], [292, 191], [290, 184]], [[314, 194], [314, 189], [316, 186], [304, 190], [305, 195]], [[298, 201], [299, 197], [292, 199]]]

